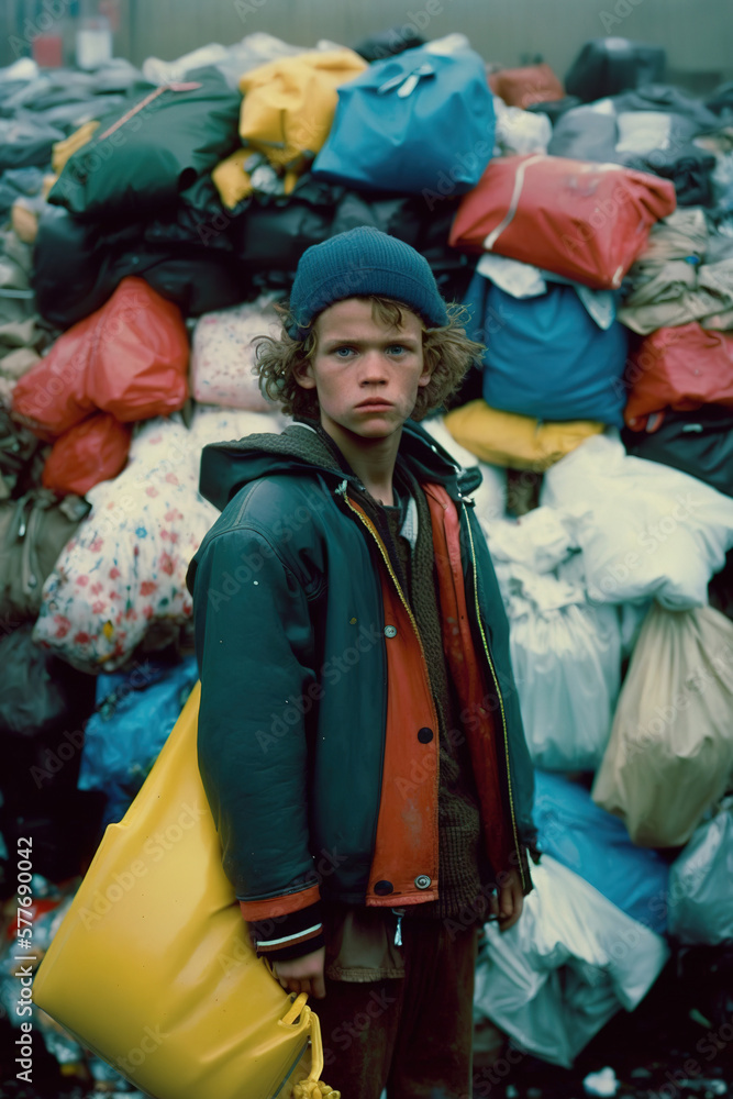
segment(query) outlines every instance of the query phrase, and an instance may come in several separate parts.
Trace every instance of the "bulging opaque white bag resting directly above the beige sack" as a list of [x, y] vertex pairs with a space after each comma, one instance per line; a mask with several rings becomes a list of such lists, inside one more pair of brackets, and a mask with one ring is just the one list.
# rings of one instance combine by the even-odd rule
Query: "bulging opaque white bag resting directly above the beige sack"
[[544, 477], [541, 503], [576, 517], [589, 598], [704, 607], [733, 546], [733, 498], [609, 435], [587, 440]]

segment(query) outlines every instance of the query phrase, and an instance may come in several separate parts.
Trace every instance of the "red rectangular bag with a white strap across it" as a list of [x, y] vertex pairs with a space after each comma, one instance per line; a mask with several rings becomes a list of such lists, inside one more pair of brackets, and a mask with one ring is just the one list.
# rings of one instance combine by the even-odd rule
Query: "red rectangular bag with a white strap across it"
[[644, 171], [544, 154], [496, 157], [464, 196], [449, 244], [615, 289], [676, 204], [674, 184]]

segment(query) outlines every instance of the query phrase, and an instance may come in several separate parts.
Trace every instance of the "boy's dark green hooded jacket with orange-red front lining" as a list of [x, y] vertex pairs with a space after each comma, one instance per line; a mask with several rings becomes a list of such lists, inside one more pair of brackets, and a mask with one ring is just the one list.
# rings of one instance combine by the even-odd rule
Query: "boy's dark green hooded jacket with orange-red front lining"
[[199, 762], [269, 956], [322, 944], [322, 900], [445, 920], [512, 868], [531, 888], [532, 768], [476, 471], [408, 421], [395, 484], [382, 508], [310, 421], [203, 452], [223, 513], [187, 581]]

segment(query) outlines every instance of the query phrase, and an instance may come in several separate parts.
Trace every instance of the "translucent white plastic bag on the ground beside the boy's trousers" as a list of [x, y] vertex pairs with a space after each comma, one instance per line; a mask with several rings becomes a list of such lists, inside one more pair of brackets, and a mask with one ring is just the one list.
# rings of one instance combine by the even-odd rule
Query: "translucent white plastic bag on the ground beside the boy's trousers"
[[513, 928], [486, 924], [474, 1010], [521, 1048], [569, 1068], [617, 1011], [633, 1011], [669, 951], [549, 855], [532, 879]]

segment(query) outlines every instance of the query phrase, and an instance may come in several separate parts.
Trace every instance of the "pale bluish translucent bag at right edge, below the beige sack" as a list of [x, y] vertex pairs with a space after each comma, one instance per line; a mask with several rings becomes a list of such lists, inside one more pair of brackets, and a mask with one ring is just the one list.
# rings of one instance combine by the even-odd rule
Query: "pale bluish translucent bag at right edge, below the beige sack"
[[669, 933], [682, 943], [733, 940], [733, 798], [671, 864], [667, 904]]

